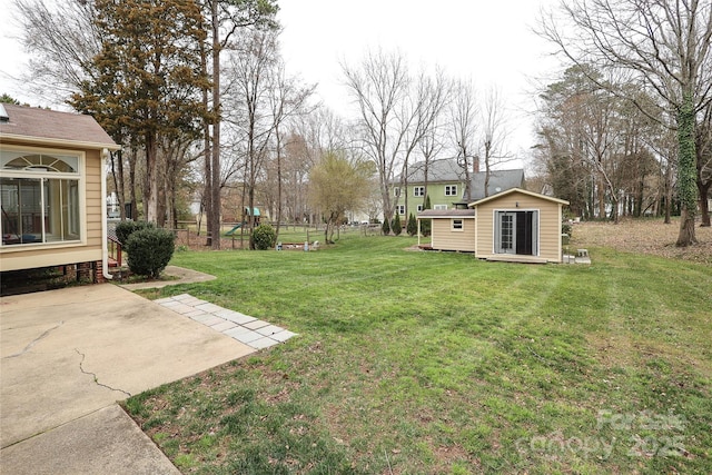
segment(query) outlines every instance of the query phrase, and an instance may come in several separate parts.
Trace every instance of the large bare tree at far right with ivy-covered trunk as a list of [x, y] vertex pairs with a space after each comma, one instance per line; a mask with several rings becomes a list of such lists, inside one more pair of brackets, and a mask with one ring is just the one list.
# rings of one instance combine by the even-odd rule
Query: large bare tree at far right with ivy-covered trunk
[[[562, 18], [541, 21], [541, 34], [568, 60], [627, 72], [654, 92], [678, 130], [678, 246], [696, 241], [695, 118], [712, 101], [712, 3], [703, 0], [572, 0]], [[595, 80], [595, 78], [591, 78]], [[602, 87], [609, 87], [601, 83]], [[625, 91], [611, 88], [640, 106]], [[641, 107], [647, 112], [647, 109]], [[657, 119], [662, 113], [651, 115]]]

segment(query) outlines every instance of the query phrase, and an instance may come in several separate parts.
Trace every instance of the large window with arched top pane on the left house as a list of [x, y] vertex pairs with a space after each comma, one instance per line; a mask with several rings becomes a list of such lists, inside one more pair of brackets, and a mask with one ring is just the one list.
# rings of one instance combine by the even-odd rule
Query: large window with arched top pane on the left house
[[79, 155], [2, 150], [0, 164], [1, 246], [81, 239]]

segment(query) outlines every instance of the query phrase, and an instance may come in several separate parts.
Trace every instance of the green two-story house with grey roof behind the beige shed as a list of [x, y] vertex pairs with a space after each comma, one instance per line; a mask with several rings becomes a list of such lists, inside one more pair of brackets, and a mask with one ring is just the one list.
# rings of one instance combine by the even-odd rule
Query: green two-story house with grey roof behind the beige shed
[[[431, 197], [431, 209], [445, 210], [465, 208], [469, 201], [495, 195], [510, 188], [524, 188], [524, 170], [492, 170], [485, 194], [484, 171], [469, 174], [471, 199], [466, 198], [465, 170], [456, 160], [434, 160], [427, 167], [427, 189], [425, 182], [425, 164], [417, 162], [408, 169], [407, 187], [394, 187], [396, 212], [403, 218], [413, 212], [423, 211], [425, 195]], [[398, 181], [399, 182], [399, 181]]]

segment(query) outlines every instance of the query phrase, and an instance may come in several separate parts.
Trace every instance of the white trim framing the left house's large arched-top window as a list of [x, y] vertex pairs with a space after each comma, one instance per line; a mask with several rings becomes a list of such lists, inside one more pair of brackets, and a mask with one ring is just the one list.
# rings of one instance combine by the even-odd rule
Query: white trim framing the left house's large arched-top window
[[[1, 145], [1, 150], [22, 152], [22, 154], [39, 154], [39, 155], [60, 155], [60, 156], [77, 156], [78, 157], [78, 170], [77, 172], [41, 172], [37, 170], [6, 170], [0, 168], [0, 177], [3, 178], [49, 178], [49, 179], [70, 179], [77, 180], [79, 184], [79, 239], [68, 241], [53, 241], [53, 243], [33, 243], [22, 245], [8, 245], [3, 246], [0, 243], [0, 247], [3, 253], [21, 253], [29, 249], [46, 249], [46, 248], [63, 248], [63, 247], [78, 247], [87, 245], [87, 154], [82, 150], [34, 147], [34, 146], [14, 146], [14, 145]], [[103, 164], [101, 165], [103, 166]], [[102, 202], [103, 206], [103, 202]], [[4, 231], [4, 230], [3, 230]]]

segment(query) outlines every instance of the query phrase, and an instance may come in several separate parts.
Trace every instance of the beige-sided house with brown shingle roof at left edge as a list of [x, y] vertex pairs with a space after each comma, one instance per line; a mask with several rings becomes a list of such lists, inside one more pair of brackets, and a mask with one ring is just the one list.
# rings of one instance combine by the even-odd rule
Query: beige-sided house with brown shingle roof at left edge
[[120, 147], [90, 116], [0, 107], [0, 271], [107, 271], [105, 160]]

